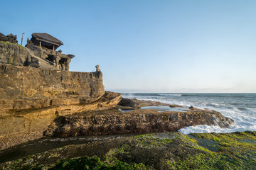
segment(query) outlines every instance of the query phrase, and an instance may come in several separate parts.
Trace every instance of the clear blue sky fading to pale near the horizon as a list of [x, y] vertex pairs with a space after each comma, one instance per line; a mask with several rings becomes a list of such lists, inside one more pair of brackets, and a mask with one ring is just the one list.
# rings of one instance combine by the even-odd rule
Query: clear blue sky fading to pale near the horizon
[[1, 1], [0, 33], [49, 33], [105, 90], [256, 93], [256, 1]]

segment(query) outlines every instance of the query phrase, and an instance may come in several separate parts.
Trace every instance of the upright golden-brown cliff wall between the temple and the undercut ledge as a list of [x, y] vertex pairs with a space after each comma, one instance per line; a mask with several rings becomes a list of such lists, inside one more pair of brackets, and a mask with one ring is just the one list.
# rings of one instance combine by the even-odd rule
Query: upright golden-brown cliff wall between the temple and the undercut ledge
[[105, 94], [102, 72], [65, 72], [0, 64], [1, 110], [96, 101]]

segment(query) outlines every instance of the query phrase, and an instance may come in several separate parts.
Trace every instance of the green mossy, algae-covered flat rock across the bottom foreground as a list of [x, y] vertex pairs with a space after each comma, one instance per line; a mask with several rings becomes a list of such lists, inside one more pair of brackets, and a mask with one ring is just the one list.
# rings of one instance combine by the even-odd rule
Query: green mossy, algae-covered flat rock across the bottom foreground
[[256, 132], [165, 132], [69, 145], [1, 169], [255, 169]]

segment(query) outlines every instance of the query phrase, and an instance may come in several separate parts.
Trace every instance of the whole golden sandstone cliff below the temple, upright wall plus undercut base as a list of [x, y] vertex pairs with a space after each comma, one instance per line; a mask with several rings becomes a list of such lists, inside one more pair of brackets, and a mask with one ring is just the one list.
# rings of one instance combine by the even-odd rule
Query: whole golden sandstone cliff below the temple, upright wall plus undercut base
[[[102, 72], [67, 72], [0, 64], [0, 148], [43, 137], [58, 116], [110, 109]], [[105, 95], [105, 96], [104, 96]]]

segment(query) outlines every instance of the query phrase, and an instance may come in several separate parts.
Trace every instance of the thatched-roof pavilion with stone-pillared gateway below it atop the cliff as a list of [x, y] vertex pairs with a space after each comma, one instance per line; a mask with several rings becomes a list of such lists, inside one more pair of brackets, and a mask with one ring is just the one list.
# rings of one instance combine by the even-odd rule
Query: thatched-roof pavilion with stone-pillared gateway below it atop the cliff
[[33, 33], [31, 40], [27, 40], [26, 47], [33, 57], [47, 60], [54, 69], [68, 71], [71, 59], [75, 55], [65, 55], [61, 50], [56, 51], [60, 45], [63, 45], [63, 42], [48, 33]]

